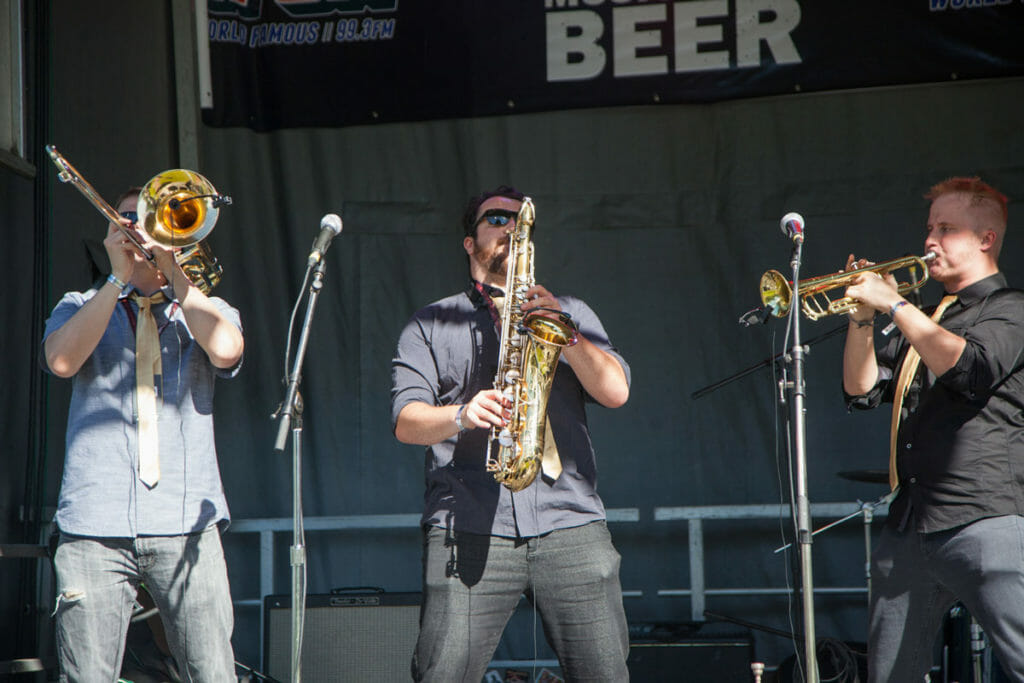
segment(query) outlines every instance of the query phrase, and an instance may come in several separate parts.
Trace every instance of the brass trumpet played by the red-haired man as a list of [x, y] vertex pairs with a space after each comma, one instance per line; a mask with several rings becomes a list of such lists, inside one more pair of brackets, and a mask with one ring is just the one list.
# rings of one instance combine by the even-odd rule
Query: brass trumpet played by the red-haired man
[[[800, 307], [804, 314], [812, 321], [825, 315], [849, 313], [856, 310], [860, 302], [853, 297], [843, 296], [831, 299], [828, 293], [840, 288], [846, 289], [862, 272], [873, 272], [882, 278], [901, 268], [906, 268], [909, 271], [910, 280], [903, 283], [897, 282], [896, 289], [901, 295], [912, 292], [928, 282], [928, 261], [933, 258], [935, 258], [935, 252], [928, 252], [924, 256], [904, 256], [856, 270], [803, 280], [797, 291], [797, 295], [800, 297]], [[921, 268], [924, 273], [921, 279], [916, 274], [918, 268]], [[793, 304], [793, 286], [778, 270], [768, 270], [761, 275], [761, 302], [775, 317], [782, 317], [790, 312], [790, 306]]]

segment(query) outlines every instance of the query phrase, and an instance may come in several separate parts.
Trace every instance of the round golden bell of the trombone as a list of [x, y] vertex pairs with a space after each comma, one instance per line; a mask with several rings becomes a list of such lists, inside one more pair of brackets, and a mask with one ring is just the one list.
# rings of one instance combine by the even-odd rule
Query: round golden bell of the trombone
[[186, 247], [206, 238], [217, 222], [216, 188], [185, 169], [154, 176], [138, 197], [138, 224], [165, 247]]

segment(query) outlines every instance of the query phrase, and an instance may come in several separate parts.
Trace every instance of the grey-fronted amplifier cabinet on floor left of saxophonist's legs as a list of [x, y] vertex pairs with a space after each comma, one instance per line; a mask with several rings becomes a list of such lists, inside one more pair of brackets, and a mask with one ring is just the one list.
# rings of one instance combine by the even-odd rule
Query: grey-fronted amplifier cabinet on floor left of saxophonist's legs
[[[408, 681], [420, 630], [420, 593], [306, 596], [302, 680], [309, 683]], [[291, 679], [292, 598], [263, 602], [263, 671]]]

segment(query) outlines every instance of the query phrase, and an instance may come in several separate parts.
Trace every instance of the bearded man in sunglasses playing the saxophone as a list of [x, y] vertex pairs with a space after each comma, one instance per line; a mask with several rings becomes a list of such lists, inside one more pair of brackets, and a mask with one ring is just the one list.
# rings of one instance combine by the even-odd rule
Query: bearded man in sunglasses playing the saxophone
[[488, 434], [511, 408], [495, 374], [509, 234], [523, 200], [505, 185], [469, 200], [462, 222], [471, 281], [413, 315], [392, 361], [395, 436], [427, 447], [415, 681], [478, 683], [522, 595], [565, 680], [629, 679], [620, 555], [597, 495], [585, 403], [624, 404], [630, 370], [580, 299], [539, 284], [525, 291], [522, 311], [567, 313], [578, 333], [550, 390], [541, 475], [513, 492], [486, 469]]

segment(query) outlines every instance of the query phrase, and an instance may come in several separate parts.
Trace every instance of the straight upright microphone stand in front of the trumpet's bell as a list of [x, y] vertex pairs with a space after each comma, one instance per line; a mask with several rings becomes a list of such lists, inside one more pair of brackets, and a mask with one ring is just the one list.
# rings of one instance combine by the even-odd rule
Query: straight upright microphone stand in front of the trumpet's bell
[[794, 492], [797, 512], [797, 542], [800, 544], [800, 573], [804, 607], [804, 657], [806, 660], [807, 683], [818, 683], [818, 663], [816, 638], [814, 635], [814, 586], [811, 577], [811, 515], [807, 497], [807, 425], [805, 422], [804, 355], [806, 349], [800, 343], [800, 262], [803, 254], [803, 234], [794, 237], [793, 259], [793, 302], [790, 307], [790, 324], [793, 333], [793, 347], [786, 361], [793, 366], [793, 381], [780, 381], [779, 400], [785, 401], [785, 390], [792, 393], [791, 437], [796, 459], [796, 490]]

